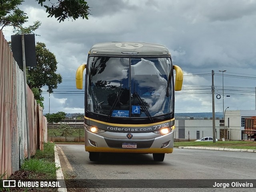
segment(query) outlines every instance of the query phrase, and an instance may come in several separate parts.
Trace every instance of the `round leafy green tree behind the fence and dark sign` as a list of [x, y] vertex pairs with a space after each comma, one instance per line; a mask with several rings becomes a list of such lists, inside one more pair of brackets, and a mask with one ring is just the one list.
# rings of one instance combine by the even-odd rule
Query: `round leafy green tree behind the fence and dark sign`
[[44, 43], [36, 43], [36, 66], [28, 68], [27, 83], [30, 89], [38, 88], [42, 93], [41, 88], [48, 86], [48, 92], [53, 93], [58, 83], [62, 82], [62, 76], [56, 73], [57, 60]]

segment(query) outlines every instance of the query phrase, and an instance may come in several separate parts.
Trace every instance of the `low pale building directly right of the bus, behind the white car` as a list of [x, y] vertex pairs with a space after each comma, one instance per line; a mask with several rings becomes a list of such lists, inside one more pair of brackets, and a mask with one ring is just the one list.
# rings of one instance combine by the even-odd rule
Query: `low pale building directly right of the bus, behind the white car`
[[[212, 120], [175, 120], [174, 139], [196, 140], [212, 137]], [[216, 139], [220, 138], [220, 120], [215, 120]]]

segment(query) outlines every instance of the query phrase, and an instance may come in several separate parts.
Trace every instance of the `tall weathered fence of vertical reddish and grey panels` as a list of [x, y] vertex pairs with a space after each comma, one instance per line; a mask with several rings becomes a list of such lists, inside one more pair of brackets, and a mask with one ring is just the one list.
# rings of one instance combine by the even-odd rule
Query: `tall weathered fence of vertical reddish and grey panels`
[[[0, 30], [0, 176], [19, 170], [28, 156], [23, 71]], [[30, 156], [47, 142], [47, 120], [28, 85]]]

